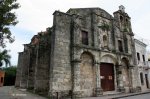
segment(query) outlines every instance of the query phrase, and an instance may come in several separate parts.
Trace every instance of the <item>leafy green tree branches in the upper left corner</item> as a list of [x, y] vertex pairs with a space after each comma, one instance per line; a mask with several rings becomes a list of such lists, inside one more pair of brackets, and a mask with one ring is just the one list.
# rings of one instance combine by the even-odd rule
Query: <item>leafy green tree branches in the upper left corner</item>
[[0, 0], [0, 47], [6, 46], [6, 40], [9, 40], [10, 43], [14, 41], [9, 27], [18, 23], [15, 13], [12, 12], [12, 10], [19, 8], [16, 1]]

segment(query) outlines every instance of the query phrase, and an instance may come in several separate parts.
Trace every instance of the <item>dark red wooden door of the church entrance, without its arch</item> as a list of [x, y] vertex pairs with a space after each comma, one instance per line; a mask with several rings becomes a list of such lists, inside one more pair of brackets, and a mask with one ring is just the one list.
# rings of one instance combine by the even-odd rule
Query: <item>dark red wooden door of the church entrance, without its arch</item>
[[114, 88], [114, 66], [109, 63], [100, 65], [101, 87], [103, 91], [113, 91]]

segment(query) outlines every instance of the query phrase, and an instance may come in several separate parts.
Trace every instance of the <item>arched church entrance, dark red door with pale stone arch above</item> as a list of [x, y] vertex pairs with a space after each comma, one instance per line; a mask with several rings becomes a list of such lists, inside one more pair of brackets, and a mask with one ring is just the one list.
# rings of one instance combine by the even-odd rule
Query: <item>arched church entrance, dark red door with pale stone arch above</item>
[[100, 64], [100, 79], [101, 79], [101, 88], [103, 91], [114, 91], [115, 90], [115, 66], [116, 58], [112, 55], [104, 55], [101, 58]]

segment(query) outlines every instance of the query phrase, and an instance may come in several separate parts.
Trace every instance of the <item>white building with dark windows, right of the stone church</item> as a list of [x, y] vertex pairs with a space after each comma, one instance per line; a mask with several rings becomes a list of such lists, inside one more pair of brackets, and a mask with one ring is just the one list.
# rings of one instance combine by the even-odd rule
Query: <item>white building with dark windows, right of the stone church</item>
[[137, 71], [139, 73], [138, 78], [142, 91], [145, 91], [150, 88], [150, 65], [148, 62], [146, 46], [147, 45], [142, 41], [135, 39], [136, 60], [138, 66]]

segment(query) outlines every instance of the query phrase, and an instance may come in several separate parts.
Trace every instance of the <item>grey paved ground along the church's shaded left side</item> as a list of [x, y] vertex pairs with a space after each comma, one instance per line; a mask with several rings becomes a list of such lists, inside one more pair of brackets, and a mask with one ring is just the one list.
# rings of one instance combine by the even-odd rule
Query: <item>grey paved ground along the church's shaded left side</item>
[[0, 87], [0, 99], [47, 99], [25, 90], [18, 90], [13, 86]]

